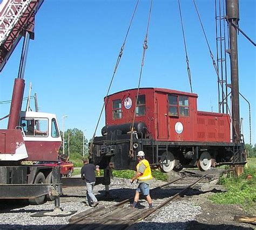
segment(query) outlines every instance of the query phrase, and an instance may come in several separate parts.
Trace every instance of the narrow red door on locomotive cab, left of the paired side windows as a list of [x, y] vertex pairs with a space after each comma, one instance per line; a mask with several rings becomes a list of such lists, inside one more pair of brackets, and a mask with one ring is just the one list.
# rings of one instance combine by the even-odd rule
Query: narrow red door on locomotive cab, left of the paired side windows
[[156, 94], [157, 138], [169, 139], [168, 101], [166, 94]]

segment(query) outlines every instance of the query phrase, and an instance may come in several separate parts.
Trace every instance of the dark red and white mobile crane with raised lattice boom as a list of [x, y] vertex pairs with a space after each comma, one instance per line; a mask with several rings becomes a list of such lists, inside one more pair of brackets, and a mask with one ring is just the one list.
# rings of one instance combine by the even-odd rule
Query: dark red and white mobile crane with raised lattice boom
[[62, 143], [55, 114], [21, 111], [29, 40], [34, 38], [35, 15], [42, 3], [43, 0], [3, 0], [0, 5], [0, 71], [24, 37], [10, 113], [0, 119], [9, 119], [7, 129], [0, 130], [0, 199], [29, 199], [30, 204], [55, 200], [58, 209], [62, 194], [60, 167], [22, 164], [57, 161]]

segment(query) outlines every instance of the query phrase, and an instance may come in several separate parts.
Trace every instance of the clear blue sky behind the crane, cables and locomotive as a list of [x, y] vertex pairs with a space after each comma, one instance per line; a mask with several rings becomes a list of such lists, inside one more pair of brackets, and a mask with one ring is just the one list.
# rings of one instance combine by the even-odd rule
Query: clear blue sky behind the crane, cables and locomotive
[[[38, 95], [39, 111], [57, 115], [62, 129], [78, 128], [91, 138], [103, 105], [136, 0], [45, 0], [36, 15], [35, 40], [30, 40], [26, 62], [24, 96]], [[181, 2], [193, 92], [198, 110], [218, 111], [217, 75], [192, 0]], [[1, 1], [0, 1], [1, 3]], [[216, 59], [214, 0], [197, 0], [204, 29]], [[254, 0], [240, 1], [240, 28], [255, 38]], [[137, 88], [150, 1], [140, 0], [111, 93]], [[0, 73], [0, 101], [11, 99], [23, 40]], [[148, 49], [141, 87], [190, 92], [178, 1], [153, 1]], [[252, 144], [255, 137], [255, 47], [242, 34], [238, 37], [239, 89], [251, 103]], [[229, 66], [229, 64], [228, 64]], [[230, 76], [228, 76], [230, 83]], [[25, 103], [23, 104], [25, 108]], [[33, 107], [32, 107], [33, 108]], [[0, 117], [10, 104], [0, 104]], [[249, 143], [248, 104], [240, 97], [245, 142]], [[104, 126], [100, 120], [97, 135]], [[6, 128], [6, 119], [0, 128]]]

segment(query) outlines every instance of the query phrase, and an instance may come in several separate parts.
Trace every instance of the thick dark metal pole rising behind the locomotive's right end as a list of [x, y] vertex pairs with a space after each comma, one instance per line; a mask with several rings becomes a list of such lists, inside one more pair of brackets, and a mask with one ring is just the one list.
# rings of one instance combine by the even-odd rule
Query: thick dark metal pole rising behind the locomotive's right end
[[230, 54], [231, 65], [231, 96], [232, 96], [232, 138], [233, 142], [240, 142], [240, 116], [239, 116], [239, 85], [238, 85], [238, 49], [237, 28], [239, 21], [238, 0], [226, 0], [226, 18], [230, 32]]

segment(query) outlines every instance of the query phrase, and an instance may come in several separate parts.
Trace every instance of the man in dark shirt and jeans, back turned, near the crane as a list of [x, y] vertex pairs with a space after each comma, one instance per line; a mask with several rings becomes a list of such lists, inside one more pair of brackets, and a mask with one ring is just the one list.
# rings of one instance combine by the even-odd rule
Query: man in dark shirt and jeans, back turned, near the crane
[[81, 178], [85, 180], [88, 204], [92, 207], [96, 207], [99, 203], [93, 194], [93, 187], [96, 182], [95, 170], [98, 172], [99, 168], [95, 168], [95, 165], [89, 164], [87, 159], [84, 159], [83, 162], [84, 166], [81, 169]]

